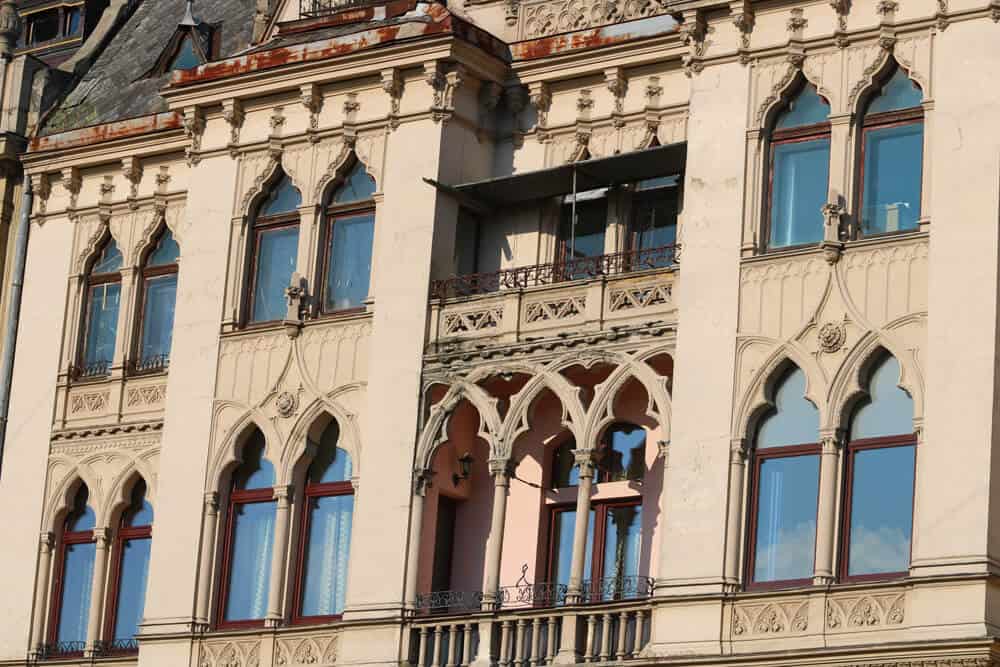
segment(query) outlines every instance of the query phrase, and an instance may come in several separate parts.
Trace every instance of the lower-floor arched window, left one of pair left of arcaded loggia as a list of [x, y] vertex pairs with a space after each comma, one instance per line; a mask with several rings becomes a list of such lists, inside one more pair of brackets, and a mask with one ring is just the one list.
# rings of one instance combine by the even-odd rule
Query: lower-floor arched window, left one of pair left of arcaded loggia
[[255, 429], [233, 473], [223, 557], [220, 627], [264, 623], [274, 551], [274, 467], [264, 458], [264, 434]]

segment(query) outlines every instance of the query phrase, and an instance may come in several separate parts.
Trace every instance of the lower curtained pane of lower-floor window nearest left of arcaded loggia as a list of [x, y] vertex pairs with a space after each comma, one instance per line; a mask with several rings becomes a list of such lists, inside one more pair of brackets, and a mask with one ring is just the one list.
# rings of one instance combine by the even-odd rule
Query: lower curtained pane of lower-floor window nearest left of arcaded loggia
[[312, 498], [309, 507], [302, 615], [340, 614], [347, 588], [354, 496]]

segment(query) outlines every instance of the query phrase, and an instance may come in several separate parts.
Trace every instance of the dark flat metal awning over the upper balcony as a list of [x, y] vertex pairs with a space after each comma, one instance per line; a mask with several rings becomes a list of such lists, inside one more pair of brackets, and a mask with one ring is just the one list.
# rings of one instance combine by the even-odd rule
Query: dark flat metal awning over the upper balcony
[[449, 186], [431, 179], [424, 180], [454, 195], [463, 205], [474, 209], [490, 209], [574, 191], [586, 192], [609, 185], [679, 174], [684, 171], [686, 159], [687, 144], [676, 143], [462, 185]]

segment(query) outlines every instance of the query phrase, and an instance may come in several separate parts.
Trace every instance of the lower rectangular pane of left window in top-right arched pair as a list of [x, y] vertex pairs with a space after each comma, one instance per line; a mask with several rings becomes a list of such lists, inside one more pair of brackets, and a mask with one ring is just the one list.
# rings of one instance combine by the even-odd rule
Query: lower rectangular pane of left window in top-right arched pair
[[822, 241], [830, 140], [775, 144], [772, 151], [771, 247]]

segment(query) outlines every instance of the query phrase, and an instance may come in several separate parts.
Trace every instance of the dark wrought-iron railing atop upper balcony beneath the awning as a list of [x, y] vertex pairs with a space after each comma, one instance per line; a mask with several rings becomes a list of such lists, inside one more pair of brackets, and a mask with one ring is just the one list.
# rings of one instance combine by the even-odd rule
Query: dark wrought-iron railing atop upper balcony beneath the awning
[[677, 261], [677, 246], [643, 248], [565, 262], [535, 264], [493, 273], [469, 273], [431, 282], [432, 299], [489, 294], [501, 289], [524, 289], [568, 280], [583, 280], [646, 269], [666, 269]]

